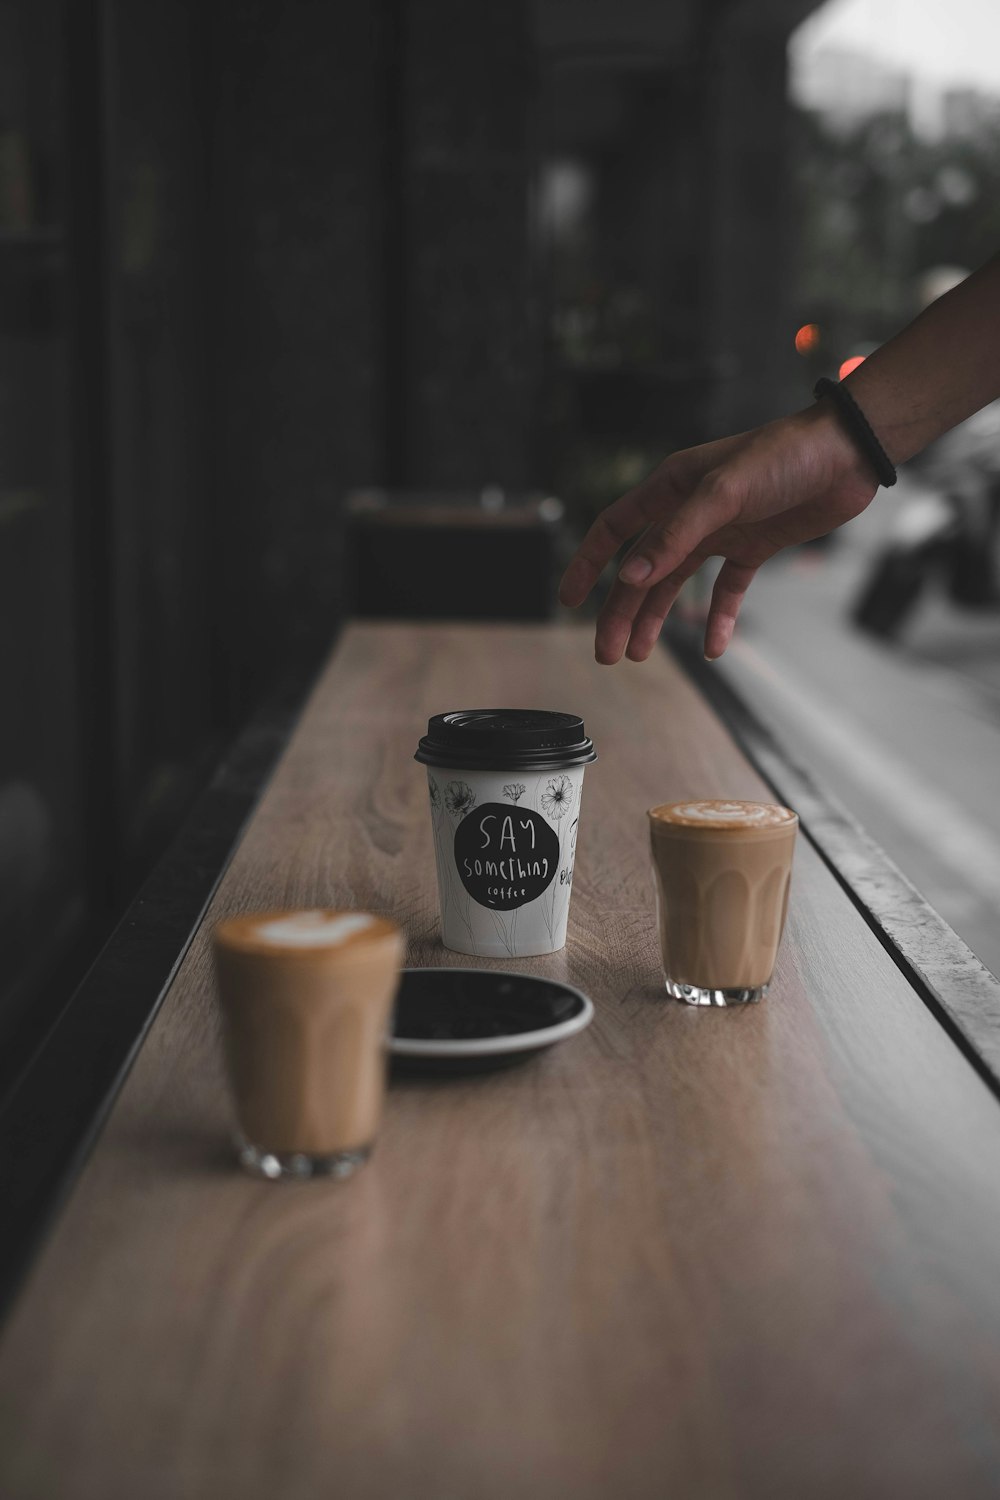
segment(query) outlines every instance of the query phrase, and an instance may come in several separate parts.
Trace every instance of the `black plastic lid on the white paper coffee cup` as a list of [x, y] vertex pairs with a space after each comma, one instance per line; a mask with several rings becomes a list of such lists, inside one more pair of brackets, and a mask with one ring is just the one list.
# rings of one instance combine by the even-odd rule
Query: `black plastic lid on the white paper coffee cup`
[[463, 708], [435, 714], [414, 756], [469, 771], [550, 771], [597, 760], [579, 714], [541, 708]]

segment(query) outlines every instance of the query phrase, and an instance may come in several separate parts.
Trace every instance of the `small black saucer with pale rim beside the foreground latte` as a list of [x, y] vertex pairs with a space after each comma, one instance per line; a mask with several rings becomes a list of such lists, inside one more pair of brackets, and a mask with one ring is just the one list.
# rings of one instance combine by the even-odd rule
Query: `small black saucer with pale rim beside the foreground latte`
[[388, 1050], [406, 1072], [477, 1072], [520, 1062], [589, 1026], [580, 990], [496, 969], [403, 969]]

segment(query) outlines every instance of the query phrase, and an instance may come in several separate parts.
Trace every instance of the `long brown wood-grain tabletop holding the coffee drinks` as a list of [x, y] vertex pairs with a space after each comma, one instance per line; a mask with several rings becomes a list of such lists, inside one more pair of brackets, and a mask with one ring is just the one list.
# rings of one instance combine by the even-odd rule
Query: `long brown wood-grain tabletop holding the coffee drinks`
[[[582, 712], [570, 944], [522, 1066], [391, 1088], [345, 1184], [243, 1178], [207, 930], [357, 904], [436, 939], [432, 712]], [[799, 840], [759, 1006], [664, 999], [645, 810], [763, 784], [666, 658], [352, 627], [0, 1344], [4, 1500], [1000, 1492], [1000, 1106]], [[502, 966], [502, 964], [498, 964]]]

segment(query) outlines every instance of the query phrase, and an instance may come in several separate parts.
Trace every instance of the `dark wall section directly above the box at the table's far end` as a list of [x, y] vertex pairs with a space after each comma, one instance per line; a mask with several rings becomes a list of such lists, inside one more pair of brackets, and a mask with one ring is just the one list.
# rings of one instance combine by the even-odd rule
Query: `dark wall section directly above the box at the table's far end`
[[537, 62], [525, 0], [400, 9], [402, 477], [537, 483]]

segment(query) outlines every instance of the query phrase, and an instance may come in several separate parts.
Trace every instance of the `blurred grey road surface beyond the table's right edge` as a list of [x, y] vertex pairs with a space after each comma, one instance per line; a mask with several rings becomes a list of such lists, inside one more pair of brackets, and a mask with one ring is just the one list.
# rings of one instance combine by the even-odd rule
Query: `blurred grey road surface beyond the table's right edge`
[[1000, 610], [919, 602], [900, 645], [849, 622], [892, 492], [759, 573], [715, 670], [751, 699], [1000, 975]]

